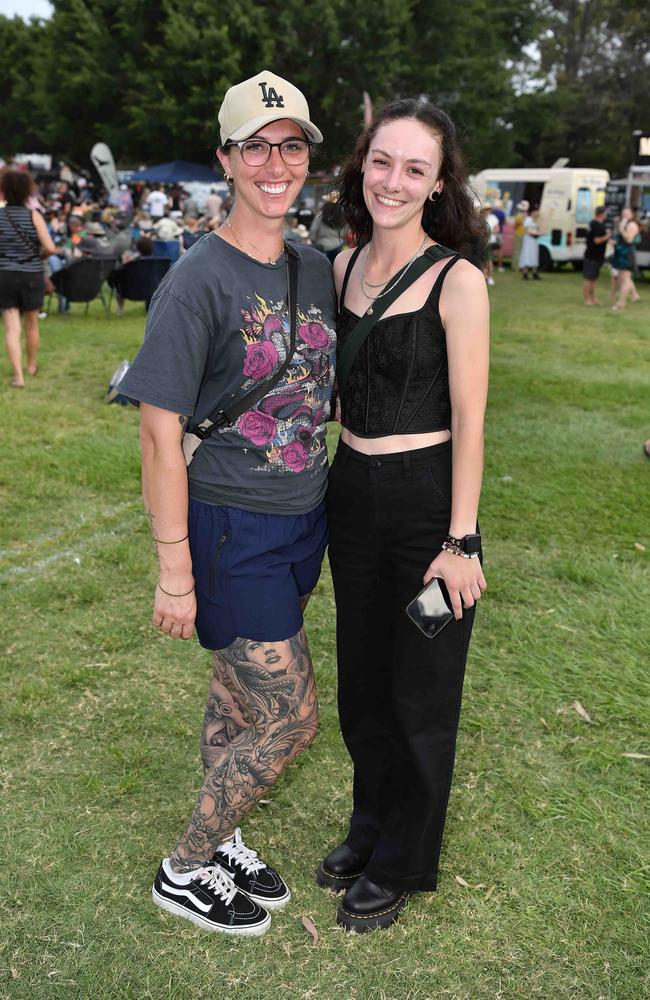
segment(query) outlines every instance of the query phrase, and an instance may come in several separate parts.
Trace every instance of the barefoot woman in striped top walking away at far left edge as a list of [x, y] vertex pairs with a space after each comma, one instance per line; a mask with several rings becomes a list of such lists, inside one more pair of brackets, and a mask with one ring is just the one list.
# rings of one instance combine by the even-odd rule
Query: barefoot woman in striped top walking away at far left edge
[[13, 368], [14, 389], [25, 386], [20, 346], [20, 317], [25, 324], [27, 372], [38, 372], [38, 314], [45, 282], [43, 252], [57, 253], [40, 212], [27, 207], [34, 182], [26, 170], [7, 167], [0, 173], [0, 310], [5, 345]]

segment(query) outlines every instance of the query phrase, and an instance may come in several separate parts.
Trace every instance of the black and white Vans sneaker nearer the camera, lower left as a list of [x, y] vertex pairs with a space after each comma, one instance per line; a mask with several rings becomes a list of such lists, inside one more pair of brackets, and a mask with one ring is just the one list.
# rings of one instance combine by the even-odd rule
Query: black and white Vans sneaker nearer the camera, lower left
[[151, 897], [156, 906], [185, 917], [206, 931], [252, 937], [264, 934], [271, 926], [270, 914], [264, 907], [240, 892], [217, 864], [177, 875], [169, 858], [165, 858]]

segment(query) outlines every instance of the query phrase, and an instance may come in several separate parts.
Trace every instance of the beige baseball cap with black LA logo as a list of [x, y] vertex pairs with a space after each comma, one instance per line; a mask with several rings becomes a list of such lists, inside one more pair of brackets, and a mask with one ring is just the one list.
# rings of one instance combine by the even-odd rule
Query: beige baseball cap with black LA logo
[[248, 139], [264, 125], [281, 118], [291, 118], [312, 142], [323, 141], [323, 136], [309, 120], [309, 105], [304, 94], [281, 76], [263, 70], [226, 91], [219, 109], [221, 143]]

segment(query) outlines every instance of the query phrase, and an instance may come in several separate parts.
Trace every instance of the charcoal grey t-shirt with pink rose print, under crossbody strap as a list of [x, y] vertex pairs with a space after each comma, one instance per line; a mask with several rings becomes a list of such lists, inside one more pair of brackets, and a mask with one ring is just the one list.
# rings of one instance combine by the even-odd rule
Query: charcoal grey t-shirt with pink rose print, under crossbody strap
[[[291, 365], [270, 395], [203, 442], [188, 469], [190, 496], [197, 500], [303, 514], [324, 496], [336, 297], [328, 260], [311, 247], [296, 249]], [[286, 299], [284, 256], [261, 264], [215, 233], [203, 237], [151, 300], [144, 343], [120, 392], [202, 420], [283, 364], [290, 331]]]

